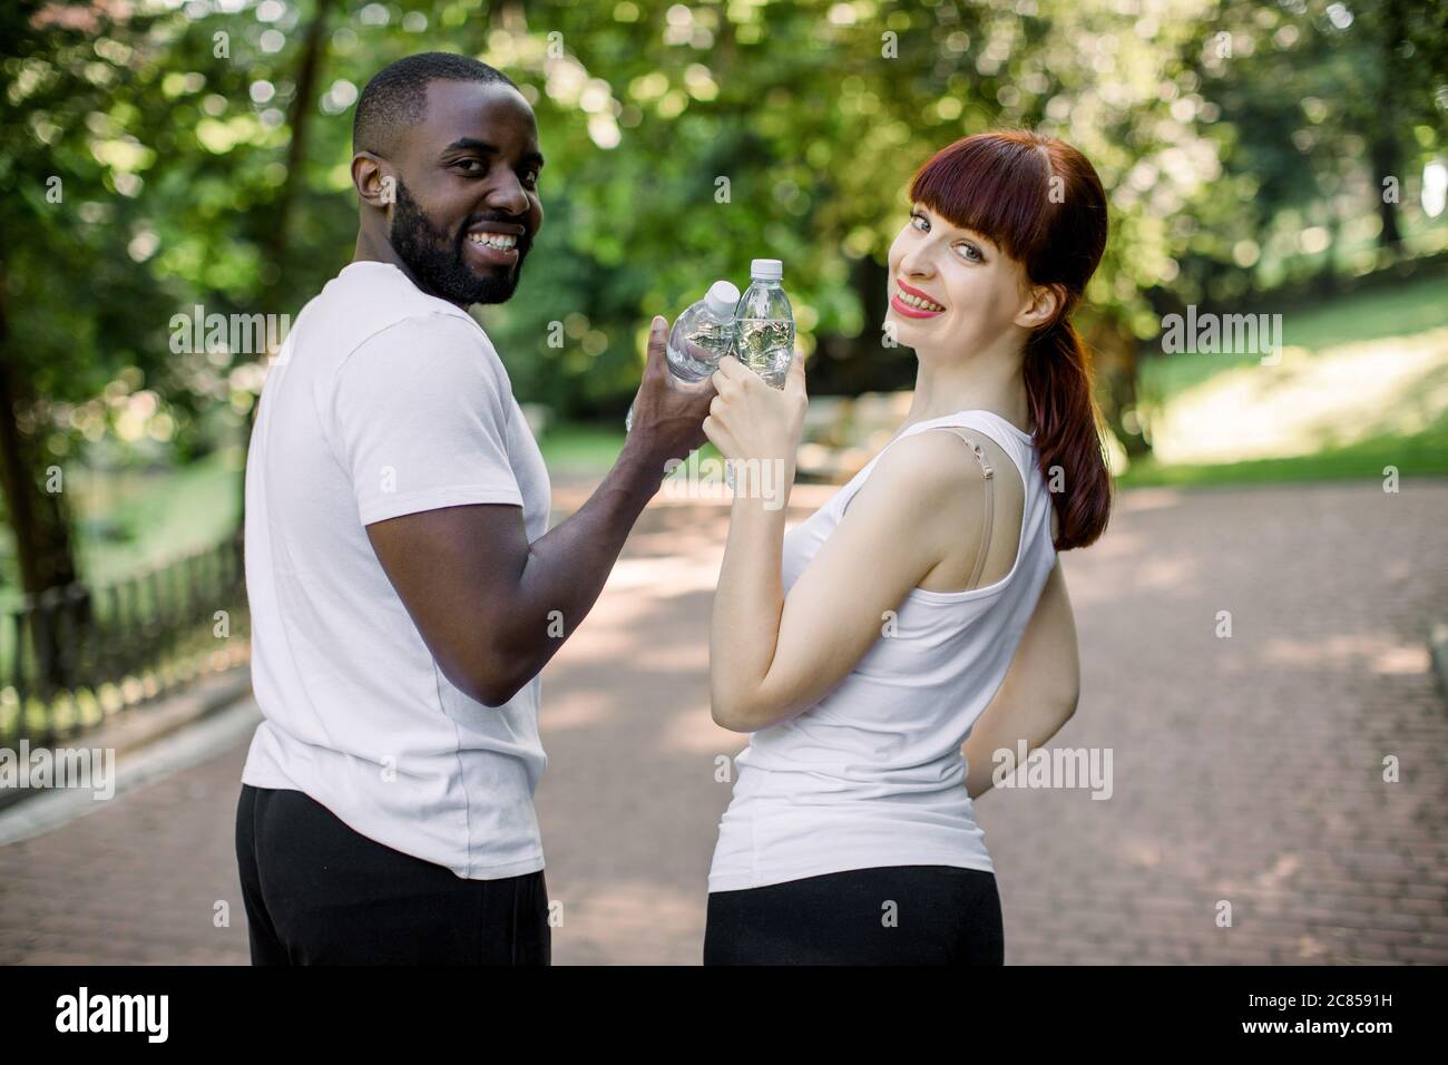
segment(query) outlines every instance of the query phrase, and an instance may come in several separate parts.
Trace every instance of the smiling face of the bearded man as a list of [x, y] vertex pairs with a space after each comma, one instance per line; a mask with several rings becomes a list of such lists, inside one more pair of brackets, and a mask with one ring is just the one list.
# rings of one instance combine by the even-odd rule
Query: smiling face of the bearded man
[[432, 81], [395, 165], [388, 236], [417, 284], [459, 306], [510, 298], [543, 225], [527, 100], [500, 83]]

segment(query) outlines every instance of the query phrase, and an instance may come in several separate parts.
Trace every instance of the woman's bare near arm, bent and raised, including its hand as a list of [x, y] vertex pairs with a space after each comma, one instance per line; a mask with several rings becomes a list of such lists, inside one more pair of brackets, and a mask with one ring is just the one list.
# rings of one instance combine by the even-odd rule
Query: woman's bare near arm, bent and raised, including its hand
[[[802, 371], [795, 375], [802, 396]], [[721, 365], [715, 387], [720, 394], [704, 422], [710, 439], [727, 458], [788, 455], [786, 484], [792, 481], [798, 435], [789, 436], [791, 387], [776, 393], [733, 359]], [[710, 630], [714, 720], [754, 732], [817, 703], [877, 639], [892, 638], [885, 635], [888, 611], [946, 551], [979, 539], [983, 497], [980, 465], [959, 436], [927, 432], [898, 440], [786, 598], [785, 509], [737, 491]]]

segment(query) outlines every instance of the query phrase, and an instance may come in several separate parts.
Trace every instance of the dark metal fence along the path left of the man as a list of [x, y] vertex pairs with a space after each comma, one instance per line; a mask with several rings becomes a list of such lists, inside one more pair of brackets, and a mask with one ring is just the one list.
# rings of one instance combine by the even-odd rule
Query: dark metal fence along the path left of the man
[[29, 596], [0, 639], [0, 745], [51, 745], [246, 661], [242, 536], [106, 587]]

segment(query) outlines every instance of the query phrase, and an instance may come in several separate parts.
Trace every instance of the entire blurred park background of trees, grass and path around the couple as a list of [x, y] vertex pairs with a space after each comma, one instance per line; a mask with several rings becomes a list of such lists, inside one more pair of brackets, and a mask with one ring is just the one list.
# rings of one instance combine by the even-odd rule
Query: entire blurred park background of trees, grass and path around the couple
[[[1109, 803], [982, 801], [1009, 958], [1448, 961], [1448, 6], [12, 0], [0, 42], [0, 745], [194, 748], [84, 820], [0, 790], [0, 962], [245, 961], [239, 903], [211, 910], [255, 717], [198, 730], [255, 714], [268, 345], [178, 345], [177, 317], [294, 317], [349, 261], [352, 107], [433, 49], [537, 113], [546, 225], [475, 313], [555, 520], [618, 452], [650, 317], [754, 256], [783, 261], [809, 356], [808, 514], [908, 407], [882, 322], [915, 168], [992, 128], [1083, 151], [1114, 217], [1077, 323], [1121, 496], [1069, 556], [1087, 688], [1060, 740], [1132, 775]], [[1280, 356], [1164, 351], [1187, 307], [1280, 314]], [[698, 959], [743, 743], [704, 684], [725, 519], [652, 506], [544, 674], [560, 961]], [[1422, 775], [1390, 788], [1409, 749]], [[77, 878], [97, 855], [114, 872]], [[1234, 893], [1253, 936], [1212, 923]]]

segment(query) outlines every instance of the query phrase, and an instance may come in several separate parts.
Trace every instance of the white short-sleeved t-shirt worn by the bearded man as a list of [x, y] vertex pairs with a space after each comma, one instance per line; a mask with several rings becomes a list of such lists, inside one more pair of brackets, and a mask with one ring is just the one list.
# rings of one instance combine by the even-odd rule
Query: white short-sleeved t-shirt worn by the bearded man
[[365, 529], [504, 503], [530, 542], [547, 532], [543, 456], [488, 336], [397, 267], [353, 262], [303, 307], [259, 403], [245, 543], [266, 720], [242, 781], [459, 877], [542, 869], [539, 678], [501, 707], [450, 684]]

